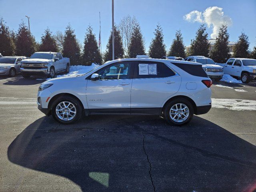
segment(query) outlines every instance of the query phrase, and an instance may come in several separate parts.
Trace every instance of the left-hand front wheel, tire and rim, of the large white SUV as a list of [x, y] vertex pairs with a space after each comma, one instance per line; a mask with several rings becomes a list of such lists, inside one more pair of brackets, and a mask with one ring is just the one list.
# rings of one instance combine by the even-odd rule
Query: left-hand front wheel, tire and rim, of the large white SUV
[[61, 96], [52, 104], [53, 118], [62, 124], [72, 124], [82, 116], [80, 102], [72, 96]]

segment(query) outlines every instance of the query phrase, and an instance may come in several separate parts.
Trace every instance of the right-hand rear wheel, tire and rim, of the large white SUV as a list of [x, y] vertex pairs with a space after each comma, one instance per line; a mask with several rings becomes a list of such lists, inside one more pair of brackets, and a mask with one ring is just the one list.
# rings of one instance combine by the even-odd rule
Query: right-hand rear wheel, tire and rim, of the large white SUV
[[181, 126], [190, 122], [194, 115], [192, 104], [184, 99], [174, 99], [170, 101], [164, 111], [166, 121], [174, 126]]

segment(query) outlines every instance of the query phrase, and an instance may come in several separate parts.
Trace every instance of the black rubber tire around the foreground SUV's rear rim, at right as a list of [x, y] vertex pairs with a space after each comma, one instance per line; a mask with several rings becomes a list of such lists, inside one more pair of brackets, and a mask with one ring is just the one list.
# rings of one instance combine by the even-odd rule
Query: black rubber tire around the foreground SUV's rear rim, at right
[[[185, 113], [185, 115], [188, 115], [188, 117], [186, 118], [186, 120], [182, 121], [182, 119], [185, 119], [185, 116], [182, 115], [181, 113], [178, 113], [177, 112], [177, 115], [176, 114], [172, 114], [172, 118], [174, 117], [174, 120], [175, 118], [177, 117], [177, 121], [174, 121], [172, 118], [171, 118], [171, 114], [170, 114], [170, 110], [173, 106], [175, 106], [176, 104], [183, 104], [182, 105], [182, 108], [183, 107], [187, 107], [188, 108], [188, 113]], [[185, 106], [184, 106], [185, 105]], [[180, 106], [178, 105], [178, 108], [180, 108]], [[176, 113], [174, 111], [172, 111], [173, 113]], [[184, 110], [180, 110], [180, 112], [185, 112]], [[176, 115], [176, 116], [175, 116]], [[178, 116], [180, 115], [181, 118]], [[194, 115], [194, 108], [192, 106], [192, 104], [184, 99], [184, 98], [177, 98], [177, 99], [174, 99], [172, 101], [170, 101], [166, 107], [165, 107], [165, 110], [164, 110], [164, 116], [165, 116], [165, 119], [166, 121], [170, 124], [170, 125], [174, 125], [174, 126], [181, 126], [181, 125], [184, 125], [184, 124], [187, 124], [188, 122], [190, 122], [193, 118], [193, 115]], [[178, 122], [178, 120], [180, 122]]]

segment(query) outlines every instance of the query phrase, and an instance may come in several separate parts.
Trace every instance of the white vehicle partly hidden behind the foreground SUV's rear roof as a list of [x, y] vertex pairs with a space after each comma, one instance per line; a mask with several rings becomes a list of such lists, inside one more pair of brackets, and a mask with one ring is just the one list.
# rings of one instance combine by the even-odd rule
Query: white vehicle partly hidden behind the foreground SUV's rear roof
[[185, 58], [185, 60], [201, 63], [202, 68], [211, 79], [214, 79], [216, 81], [222, 79], [222, 76], [224, 74], [224, 68], [216, 64], [212, 59], [204, 56], [189, 56]]

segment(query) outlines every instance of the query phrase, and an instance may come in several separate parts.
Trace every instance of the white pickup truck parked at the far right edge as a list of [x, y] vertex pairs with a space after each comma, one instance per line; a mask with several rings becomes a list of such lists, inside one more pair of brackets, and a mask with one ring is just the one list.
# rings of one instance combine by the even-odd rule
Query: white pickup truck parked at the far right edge
[[230, 58], [225, 64], [224, 74], [241, 78], [243, 83], [256, 80], [256, 60], [247, 58]]

